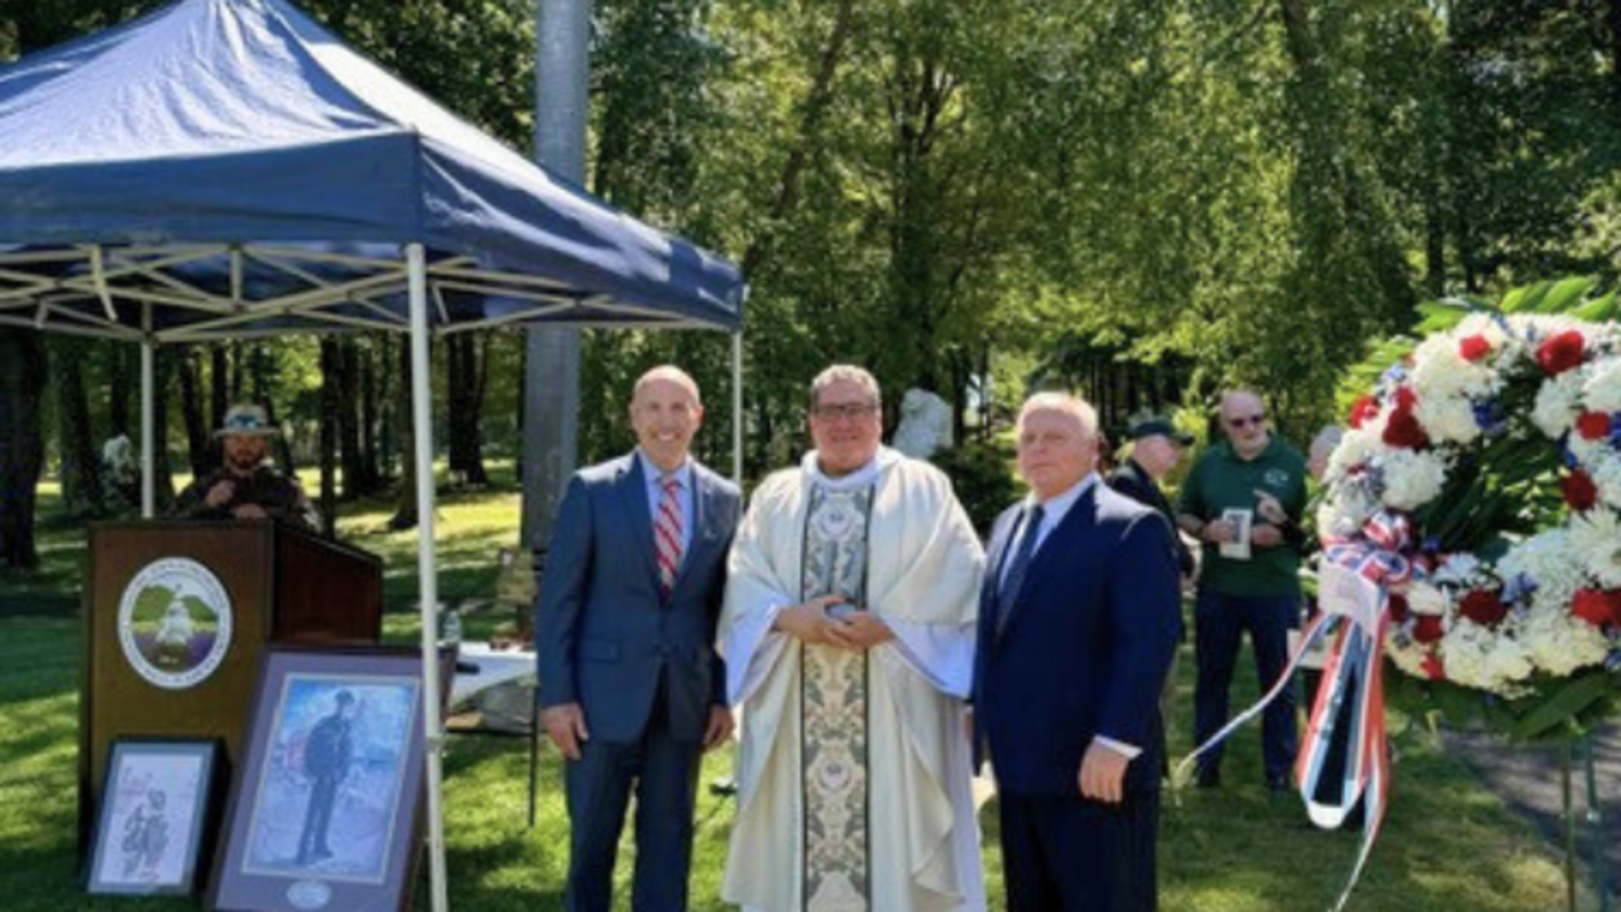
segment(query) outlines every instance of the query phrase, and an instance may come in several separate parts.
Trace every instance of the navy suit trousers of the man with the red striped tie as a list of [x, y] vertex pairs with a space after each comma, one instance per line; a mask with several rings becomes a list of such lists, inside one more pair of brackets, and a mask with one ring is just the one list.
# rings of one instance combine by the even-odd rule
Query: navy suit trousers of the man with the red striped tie
[[[665, 690], [634, 742], [592, 739], [580, 760], [567, 763], [569, 886], [567, 912], [608, 912], [613, 907], [613, 865], [624, 831], [626, 808], [635, 794], [635, 912], [681, 912], [687, 907], [692, 867], [692, 815], [697, 802], [704, 745], [669, 734]], [[590, 726], [590, 718], [585, 719]]]

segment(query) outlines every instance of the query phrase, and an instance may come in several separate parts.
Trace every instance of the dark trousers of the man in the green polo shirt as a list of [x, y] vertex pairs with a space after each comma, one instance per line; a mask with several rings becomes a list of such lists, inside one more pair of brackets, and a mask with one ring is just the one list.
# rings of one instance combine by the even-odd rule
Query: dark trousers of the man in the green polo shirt
[[[1229, 596], [1200, 590], [1193, 603], [1193, 653], [1198, 685], [1193, 692], [1193, 740], [1204, 744], [1227, 724], [1232, 672], [1243, 632], [1255, 650], [1255, 674], [1264, 693], [1289, 664], [1289, 632], [1300, 627], [1300, 596]], [[1268, 782], [1289, 779], [1298, 732], [1294, 682], [1261, 714], [1261, 753]], [[1219, 769], [1222, 745], [1200, 760], [1200, 769]]]

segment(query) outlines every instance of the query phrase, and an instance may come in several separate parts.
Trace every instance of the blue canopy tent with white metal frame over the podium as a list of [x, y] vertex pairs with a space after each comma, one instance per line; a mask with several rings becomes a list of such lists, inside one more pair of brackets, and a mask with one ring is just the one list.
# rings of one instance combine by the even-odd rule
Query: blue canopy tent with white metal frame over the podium
[[[284, 0], [183, 0], [6, 65], [0, 136], [0, 324], [141, 345], [146, 515], [157, 345], [410, 335], [428, 693], [439, 690], [430, 334], [728, 330], [741, 415], [733, 264], [548, 175]], [[443, 726], [423, 705], [444, 909]]]

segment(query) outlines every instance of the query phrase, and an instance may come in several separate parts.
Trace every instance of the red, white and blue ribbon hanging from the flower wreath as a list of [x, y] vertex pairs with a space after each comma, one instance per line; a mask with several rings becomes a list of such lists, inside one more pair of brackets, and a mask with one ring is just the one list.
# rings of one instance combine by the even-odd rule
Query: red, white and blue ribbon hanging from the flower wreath
[[[1357, 541], [1331, 541], [1323, 556], [1319, 614], [1300, 637], [1300, 645], [1272, 687], [1253, 706], [1227, 722], [1177, 765], [1175, 781], [1185, 782], [1193, 765], [1260, 716], [1294, 680], [1302, 659], [1319, 641], [1334, 637], [1323, 666], [1307, 732], [1295, 756], [1295, 781], [1311, 823], [1337, 829], [1363, 802], [1362, 846], [1350, 876], [1331, 907], [1341, 912], [1350, 899], [1384, 823], [1391, 768], [1384, 729], [1384, 635], [1389, 632], [1389, 588], [1412, 578], [1414, 567], [1402, 551], [1410, 536], [1404, 517], [1379, 514], [1368, 520]], [[1342, 719], [1342, 708], [1349, 714]], [[1328, 761], [1339, 726], [1349, 729], [1344, 768], [1326, 782]], [[1323, 795], [1323, 800], [1318, 800]]]

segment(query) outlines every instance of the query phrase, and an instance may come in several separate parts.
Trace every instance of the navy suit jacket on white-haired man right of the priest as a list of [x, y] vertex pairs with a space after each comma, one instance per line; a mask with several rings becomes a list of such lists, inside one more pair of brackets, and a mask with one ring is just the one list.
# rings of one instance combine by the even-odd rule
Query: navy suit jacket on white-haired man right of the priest
[[[1093, 735], [1141, 747], [1127, 789], [1156, 789], [1165, 752], [1159, 692], [1182, 637], [1170, 526], [1097, 483], [1036, 551], [1013, 604], [997, 604], [1021, 507], [997, 518], [979, 596], [974, 745], [997, 787], [1078, 795]], [[997, 614], [1010, 612], [1002, 633]]]

